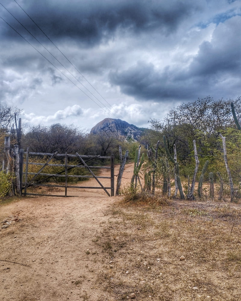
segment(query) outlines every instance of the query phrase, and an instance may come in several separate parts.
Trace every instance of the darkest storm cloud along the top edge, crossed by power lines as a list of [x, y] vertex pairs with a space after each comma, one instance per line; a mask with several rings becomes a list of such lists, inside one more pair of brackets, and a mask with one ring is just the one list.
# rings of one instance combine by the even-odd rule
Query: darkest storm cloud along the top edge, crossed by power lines
[[[15, 4], [15, 5], [14, 5]], [[78, 38], [79, 42], [95, 44], [110, 39], [117, 29], [134, 33], [158, 29], [165, 34], [174, 31], [178, 24], [200, 9], [193, 1], [22, 1], [21, 6], [50, 36], [56, 38]], [[33, 33], [39, 30], [17, 6], [8, 7], [15, 17]], [[21, 26], [2, 8], [4, 17], [16, 29]], [[13, 37], [12, 29], [5, 25], [5, 37]]]

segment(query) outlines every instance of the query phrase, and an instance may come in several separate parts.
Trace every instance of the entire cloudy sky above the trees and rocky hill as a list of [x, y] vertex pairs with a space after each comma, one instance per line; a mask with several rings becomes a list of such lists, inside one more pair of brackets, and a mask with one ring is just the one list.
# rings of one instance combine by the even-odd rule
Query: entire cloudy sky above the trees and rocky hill
[[24, 125], [148, 127], [183, 102], [241, 95], [241, 0], [0, 3], [0, 103]]

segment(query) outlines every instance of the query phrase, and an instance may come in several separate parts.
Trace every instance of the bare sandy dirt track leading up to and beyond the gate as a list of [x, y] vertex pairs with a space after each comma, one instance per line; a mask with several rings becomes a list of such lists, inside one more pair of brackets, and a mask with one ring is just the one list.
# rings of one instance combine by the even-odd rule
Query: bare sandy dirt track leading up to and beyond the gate
[[[127, 165], [123, 182], [132, 174], [133, 166]], [[110, 180], [101, 180], [110, 186], [105, 184]], [[95, 179], [86, 183], [98, 185]], [[98, 300], [103, 295], [95, 282], [105, 260], [92, 240], [119, 197], [101, 189], [68, 189], [68, 194], [74, 197], [22, 197], [1, 206], [0, 221], [15, 221], [0, 230], [0, 300], [85, 300], [90, 295]]]

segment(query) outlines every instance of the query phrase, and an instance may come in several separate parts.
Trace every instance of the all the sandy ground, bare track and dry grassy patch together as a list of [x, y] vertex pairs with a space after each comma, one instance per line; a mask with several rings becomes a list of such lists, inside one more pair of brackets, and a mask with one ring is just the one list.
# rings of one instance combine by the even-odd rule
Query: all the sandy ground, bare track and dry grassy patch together
[[[123, 185], [132, 175], [127, 164]], [[240, 204], [68, 195], [0, 206], [0, 300], [241, 300]]]

